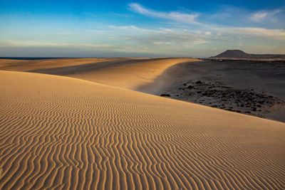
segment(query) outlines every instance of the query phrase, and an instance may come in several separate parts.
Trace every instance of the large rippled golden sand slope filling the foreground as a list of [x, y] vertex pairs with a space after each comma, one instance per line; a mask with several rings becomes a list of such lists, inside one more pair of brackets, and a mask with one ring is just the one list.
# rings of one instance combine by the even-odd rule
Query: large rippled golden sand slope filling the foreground
[[0, 189], [285, 189], [285, 124], [0, 71]]

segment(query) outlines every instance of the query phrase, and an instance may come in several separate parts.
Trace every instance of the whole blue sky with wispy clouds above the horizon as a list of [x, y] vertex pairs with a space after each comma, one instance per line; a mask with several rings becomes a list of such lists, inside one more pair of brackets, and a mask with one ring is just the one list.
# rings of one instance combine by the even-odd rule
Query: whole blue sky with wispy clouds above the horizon
[[0, 57], [285, 54], [285, 1], [0, 0]]

